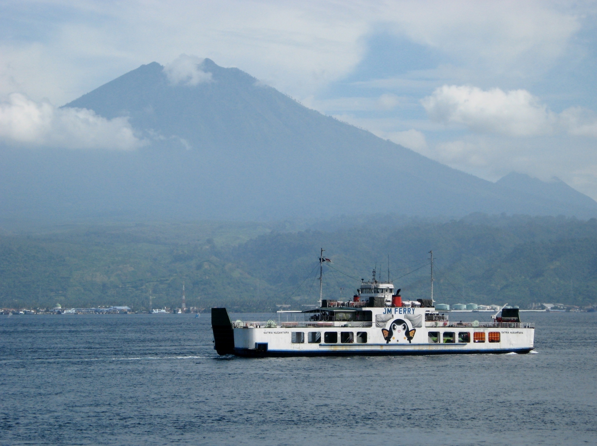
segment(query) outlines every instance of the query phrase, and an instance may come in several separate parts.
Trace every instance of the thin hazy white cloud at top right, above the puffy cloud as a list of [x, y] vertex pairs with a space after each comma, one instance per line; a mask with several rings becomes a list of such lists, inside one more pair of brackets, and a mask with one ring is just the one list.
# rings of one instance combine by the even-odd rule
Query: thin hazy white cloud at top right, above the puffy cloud
[[546, 72], [580, 29], [582, 9], [538, 1], [407, 0], [379, 12], [390, 31], [450, 56], [473, 79], [487, 79]]

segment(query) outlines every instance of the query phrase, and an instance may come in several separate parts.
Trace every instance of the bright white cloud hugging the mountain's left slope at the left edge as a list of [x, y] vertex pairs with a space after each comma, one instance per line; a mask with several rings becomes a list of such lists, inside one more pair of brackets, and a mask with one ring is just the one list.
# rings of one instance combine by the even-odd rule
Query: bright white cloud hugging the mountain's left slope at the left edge
[[67, 149], [131, 150], [143, 144], [127, 118], [106, 119], [87, 109], [56, 108], [19, 93], [0, 102], [0, 140]]

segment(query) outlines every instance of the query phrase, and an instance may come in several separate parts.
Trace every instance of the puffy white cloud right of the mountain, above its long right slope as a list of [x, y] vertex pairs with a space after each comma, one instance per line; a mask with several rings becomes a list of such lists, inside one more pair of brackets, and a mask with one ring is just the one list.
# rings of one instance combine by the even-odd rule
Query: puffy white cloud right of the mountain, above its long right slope
[[570, 107], [556, 114], [526, 90], [444, 85], [421, 104], [433, 121], [461, 124], [478, 133], [538, 136], [564, 130], [597, 137], [597, 117], [591, 110]]

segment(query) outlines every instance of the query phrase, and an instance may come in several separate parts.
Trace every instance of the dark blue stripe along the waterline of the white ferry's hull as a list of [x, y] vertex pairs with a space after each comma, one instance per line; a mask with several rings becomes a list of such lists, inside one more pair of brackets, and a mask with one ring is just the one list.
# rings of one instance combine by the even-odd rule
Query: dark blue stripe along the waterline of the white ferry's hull
[[281, 356], [413, 356], [413, 355], [479, 355], [479, 354], [503, 354], [503, 353], [528, 353], [533, 348], [524, 347], [517, 349], [458, 349], [458, 350], [344, 350], [344, 351], [301, 351], [301, 350], [267, 350], [257, 352], [255, 349], [234, 349], [234, 355], [246, 358], [265, 358]]

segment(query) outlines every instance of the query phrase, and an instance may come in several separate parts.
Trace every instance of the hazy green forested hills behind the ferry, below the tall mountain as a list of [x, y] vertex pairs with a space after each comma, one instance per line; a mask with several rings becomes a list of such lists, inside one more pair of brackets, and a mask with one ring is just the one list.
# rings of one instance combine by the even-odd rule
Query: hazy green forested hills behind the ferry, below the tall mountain
[[310, 224], [189, 223], [63, 226], [0, 236], [0, 306], [127, 304], [136, 310], [226, 305], [236, 310], [294, 308], [324, 294], [352, 297], [359, 279], [390, 278], [405, 299], [442, 303], [597, 302], [597, 220], [488, 217], [431, 222], [395, 216]]

